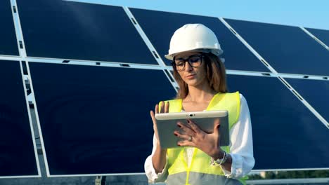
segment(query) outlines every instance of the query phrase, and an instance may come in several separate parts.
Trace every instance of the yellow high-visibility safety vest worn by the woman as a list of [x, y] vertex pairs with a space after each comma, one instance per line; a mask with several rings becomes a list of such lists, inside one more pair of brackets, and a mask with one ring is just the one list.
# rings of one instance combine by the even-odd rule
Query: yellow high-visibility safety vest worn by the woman
[[[169, 112], [181, 112], [182, 100], [169, 100]], [[159, 106], [161, 107], [161, 106]], [[231, 129], [240, 115], [240, 95], [236, 93], [217, 93], [212, 97], [206, 111], [227, 110]], [[227, 153], [229, 146], [221, 147]], [[221, 167], [210, 165], [210, 156], [195, 148], [191, 165], [188, 167], [183, 147], [167, 150], [168, 177], [167, 184], [244, 184], [244, 180], [228, 179]]]

